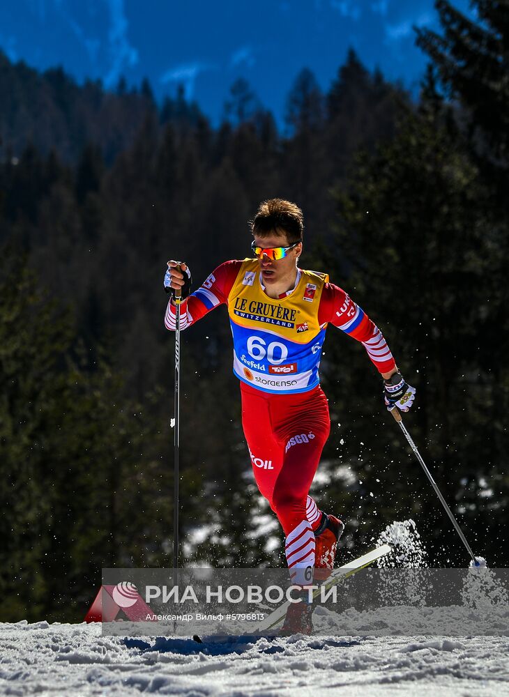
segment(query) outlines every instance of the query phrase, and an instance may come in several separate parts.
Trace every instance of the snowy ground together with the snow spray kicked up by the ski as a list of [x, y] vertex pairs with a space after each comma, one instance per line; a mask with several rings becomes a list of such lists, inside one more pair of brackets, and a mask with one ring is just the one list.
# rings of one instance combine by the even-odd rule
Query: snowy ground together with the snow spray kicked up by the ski
[[[413, 521], [387, 526], [377, 544], [383, 542], [394, 552], [382, 568], [418, 572], [426, 566]], [[386, 597], [402, 595], [413, 605], [340, 614], [318, 606], [313, 623], [321, 636], [314, 637], [209, 638], [199, 644], [192, 638], [102, 636], [100, 624], [0, 623], [0, 694], [509, 696], [509, 598], [501, 580], [489, 569], [471, 569], [462, 606], [446, 609], [425, 606], [419, 579], [417, 574], [412, 583], [411, 574], [405, 576], [402, 589], [397, 579], [387, 581]], [[408, 627], [419, 636], [404, 636]], [[494, 631], [499, 636], [480, 636]]]

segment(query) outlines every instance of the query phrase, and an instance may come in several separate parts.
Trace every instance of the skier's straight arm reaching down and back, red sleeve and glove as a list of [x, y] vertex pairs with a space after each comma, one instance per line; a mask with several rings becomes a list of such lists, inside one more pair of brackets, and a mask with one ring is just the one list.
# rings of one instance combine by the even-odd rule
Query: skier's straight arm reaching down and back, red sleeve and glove
[[411, 407], [416, 390], [404, 381], [390, 348], [377, 325], [339, 286], [326, 283], [321, 296], [318, 320], [331, 323], [363, 344], [373, 365], [384, 380], [383, 397], [387, 408], [402, 411]]

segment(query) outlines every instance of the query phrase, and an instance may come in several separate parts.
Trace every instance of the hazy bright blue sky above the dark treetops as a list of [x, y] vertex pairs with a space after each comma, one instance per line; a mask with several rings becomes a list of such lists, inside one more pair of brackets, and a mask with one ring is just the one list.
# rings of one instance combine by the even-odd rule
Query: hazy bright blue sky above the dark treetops
[[[468, 0], [453, 0], [466, 14]], [[0, 47], [11, 60], [61, 65], [79, 82], [148, 77], [158, 98], [185, 86], [217, 123], [238, 78], [280, 123], [310, 68], [328, 89], [349, 47], [414, 91], [426, 59], [412, 25], [438, 28], [432, 0], [3, 0]]]

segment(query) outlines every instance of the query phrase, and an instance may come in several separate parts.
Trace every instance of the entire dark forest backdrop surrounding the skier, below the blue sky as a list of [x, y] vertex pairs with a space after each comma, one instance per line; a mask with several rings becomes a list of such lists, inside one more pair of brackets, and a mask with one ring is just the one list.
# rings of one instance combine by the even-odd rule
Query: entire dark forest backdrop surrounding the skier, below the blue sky
[[[354, 52], [310, 70], [284, 130], [247, 82], [212, 128], [180, 93], [79, 86], [0, 54], [0, 618], [82, 620], [109, 566], [172, 565], [173, 336], [167, 259], [195, 287], [249, 256], [247, 221], [305, 214], [303, 268], [376, 321], [416, 408], [414, 440], [476, 553], [506, 566], [509, 522], [509, 3], [441, 32], [418, 100]], [[240, 422], [225, 308], [184, 332], [181, 564], [280, 565]], [[347, 521], [341, 558], [413, 518], [431, 566], [462, 547], [362, 346], [331, 328], [332, 431], [314, 494]]]

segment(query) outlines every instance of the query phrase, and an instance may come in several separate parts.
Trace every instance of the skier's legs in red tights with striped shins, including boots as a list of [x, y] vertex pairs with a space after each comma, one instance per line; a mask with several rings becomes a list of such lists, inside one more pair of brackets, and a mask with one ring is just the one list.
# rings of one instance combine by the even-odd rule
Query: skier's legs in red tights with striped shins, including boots
[[[241, 394], [254, 476], [287, 537], [291, 580], [305, 588], [331, 574], [343, 527], [319, 511], [308, 493], [331, 427], [327, 400], [320, 389], [273, 396], [242, 384]], [[315, 550], [322, 569], [314, 569]], [[310, 633], [311, 613], [305, 603], [291, 606], [284, 631]]]

